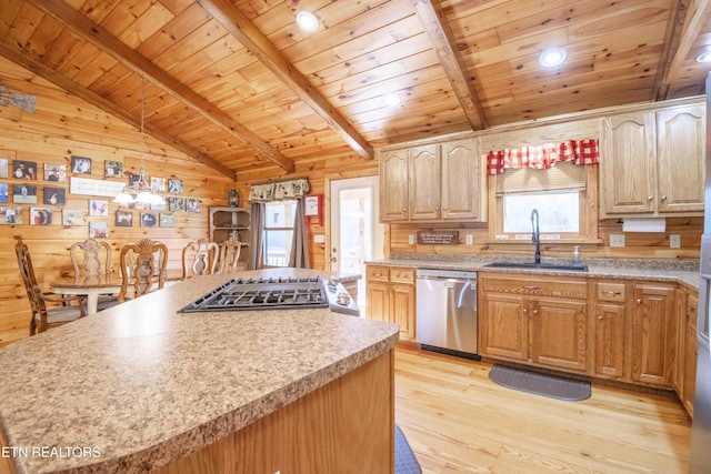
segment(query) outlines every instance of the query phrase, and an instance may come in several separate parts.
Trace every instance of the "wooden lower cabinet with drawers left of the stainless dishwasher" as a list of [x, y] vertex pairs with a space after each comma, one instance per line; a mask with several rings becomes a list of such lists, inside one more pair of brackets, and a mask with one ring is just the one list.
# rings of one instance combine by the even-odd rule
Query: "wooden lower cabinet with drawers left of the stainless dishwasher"
[[365, 317], [400, 325], [400, 340], [414, 341], [414, 269], [365, 266]]

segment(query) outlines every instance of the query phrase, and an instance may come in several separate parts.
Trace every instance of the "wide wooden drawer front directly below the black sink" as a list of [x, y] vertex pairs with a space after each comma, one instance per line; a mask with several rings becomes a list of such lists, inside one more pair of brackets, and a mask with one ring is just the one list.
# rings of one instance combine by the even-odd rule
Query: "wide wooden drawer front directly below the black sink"
[[547, 279], [540, 275], [530, 276], [489, 276], [480, 279], [485, 292], [511, 293], [537, 296], [588, 297], [588, 283], [584, 280], [557, 278]]

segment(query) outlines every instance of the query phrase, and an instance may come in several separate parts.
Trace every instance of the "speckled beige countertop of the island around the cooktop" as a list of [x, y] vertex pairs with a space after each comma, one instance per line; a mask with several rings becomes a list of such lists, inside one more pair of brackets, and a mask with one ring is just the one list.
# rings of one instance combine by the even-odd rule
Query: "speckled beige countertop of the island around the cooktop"
[[18, 472], [164, 465], [397, 344], [395, 324], [327, 309], [177, 313], [231, 278], [198, 276], [0, 347], [0, 428], [28, 450]]

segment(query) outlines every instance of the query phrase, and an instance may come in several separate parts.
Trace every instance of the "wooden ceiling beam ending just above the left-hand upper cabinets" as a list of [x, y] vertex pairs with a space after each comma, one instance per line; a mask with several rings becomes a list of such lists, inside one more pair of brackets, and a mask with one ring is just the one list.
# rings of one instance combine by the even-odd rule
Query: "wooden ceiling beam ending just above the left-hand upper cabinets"
[[349, 147], [361, 157], [373, 159], [373, 147], [230, 0], [197, 2], [337, 131]]

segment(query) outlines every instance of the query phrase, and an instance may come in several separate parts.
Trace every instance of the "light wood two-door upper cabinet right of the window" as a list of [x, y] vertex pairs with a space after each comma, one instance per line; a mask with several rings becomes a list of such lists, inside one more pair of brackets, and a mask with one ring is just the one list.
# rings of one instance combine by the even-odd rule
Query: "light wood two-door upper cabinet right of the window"
[[600, 218], [703, 212], [703, 104], [602, 119]]

